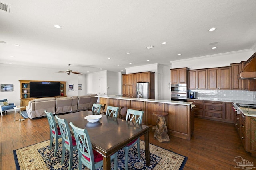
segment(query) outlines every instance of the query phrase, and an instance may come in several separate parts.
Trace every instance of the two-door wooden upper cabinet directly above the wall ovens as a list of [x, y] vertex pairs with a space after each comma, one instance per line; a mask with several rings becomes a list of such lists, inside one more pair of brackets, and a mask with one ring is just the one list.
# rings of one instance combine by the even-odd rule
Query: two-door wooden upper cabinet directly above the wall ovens
[[171, 69], [171, 84], [187, 84], [189, 68]]

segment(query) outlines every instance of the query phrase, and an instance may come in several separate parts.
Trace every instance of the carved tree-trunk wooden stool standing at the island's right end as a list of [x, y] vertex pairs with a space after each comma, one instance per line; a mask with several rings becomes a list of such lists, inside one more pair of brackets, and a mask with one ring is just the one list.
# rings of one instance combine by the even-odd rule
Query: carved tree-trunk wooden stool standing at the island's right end
[[165, 118], [169, 115], [167, 112], [153, 112], [155, 116], [158, 116], [158, 120], [156, 121], [156, 131], [154, 133], [154, 138], [157, 139], [160, 143], [169, 143], [170, 138], [167, 134], [167, 126], [165, 122]]

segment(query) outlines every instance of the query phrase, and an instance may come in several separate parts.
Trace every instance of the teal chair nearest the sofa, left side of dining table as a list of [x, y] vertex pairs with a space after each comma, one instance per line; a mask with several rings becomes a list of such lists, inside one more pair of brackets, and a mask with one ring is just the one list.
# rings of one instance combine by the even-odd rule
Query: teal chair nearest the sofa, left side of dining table
[[54, 120], [53, 114], [51, 112], [48, 112], [44, 110], [44, 113], [46, 113], [46, 117], [50, 126], [50, 145], [49, 150], [52, 149], [53, 145], [53, 139], [55, 139], [55, 149], [54, 149], [54, 157], [57, 155], [58, 146], [59, 146], [59, 139], [61, 139], [61, 133], [60, 128], [57, 127], [56, 122]]

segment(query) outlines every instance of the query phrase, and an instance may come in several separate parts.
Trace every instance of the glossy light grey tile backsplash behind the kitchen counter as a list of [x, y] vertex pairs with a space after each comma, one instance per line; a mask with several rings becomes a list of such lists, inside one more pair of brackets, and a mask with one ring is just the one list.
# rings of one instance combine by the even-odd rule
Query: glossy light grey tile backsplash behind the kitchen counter
[[246, 90], [190, 90], [201, 100], [247, 100], [256, 102], [256, 92]]

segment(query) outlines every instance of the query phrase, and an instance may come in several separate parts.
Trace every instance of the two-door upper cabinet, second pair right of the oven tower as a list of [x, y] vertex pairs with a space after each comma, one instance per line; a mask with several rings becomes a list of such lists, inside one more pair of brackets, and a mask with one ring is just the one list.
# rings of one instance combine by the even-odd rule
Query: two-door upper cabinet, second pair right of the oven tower
[[209, 68], [208, 89], [231, 89], [231, 67]]

